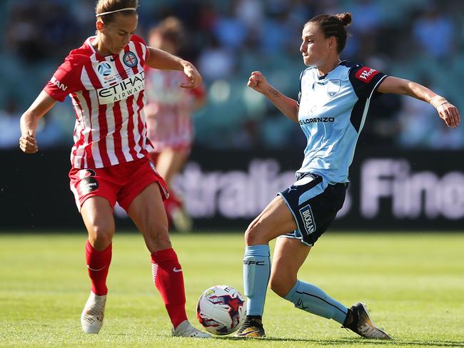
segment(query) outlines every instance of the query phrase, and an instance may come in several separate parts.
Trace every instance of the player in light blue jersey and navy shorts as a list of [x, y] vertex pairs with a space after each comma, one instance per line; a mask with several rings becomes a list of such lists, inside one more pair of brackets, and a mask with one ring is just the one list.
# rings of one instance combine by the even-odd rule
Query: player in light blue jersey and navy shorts
[[[379, 93], [405, 94], [432, 104], [448, 127], [460, 123], [455, 106], [418, 83], [386, 76], [361, 64], [341, 61], [349, 13], [316, 16], [303, 27], [300, 47], [308, 68], [301, 73], [295, 101], [269, 85], [254, 71], [248, 86], [262, 93], [288, 118], [299, 123], [308, 138], [296, 183], [253, 220], [245, 233], [243, 282], [248, 297], [247, 319], [239, 337], [264, 337], [266, 289], [295, 307], [333, 319], [360, 336], [390, 339], [370, 320], [365, 305], [348, 308], [315, 285], [298, 280], [298, 270], [318, 237], [342, 208], [348, 168], [363, 128], [370, 101]], [[271, 268], [269, 241], [276, 237]]]

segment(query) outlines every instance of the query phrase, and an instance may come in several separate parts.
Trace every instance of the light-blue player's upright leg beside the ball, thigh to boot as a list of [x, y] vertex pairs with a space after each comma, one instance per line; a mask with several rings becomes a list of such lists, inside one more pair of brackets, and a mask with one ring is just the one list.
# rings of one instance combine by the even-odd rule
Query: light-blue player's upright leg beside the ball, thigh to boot
[[245, 323], [238, 329], [237, 337], [266, 337], [262, 316], [271, 273], [268, 243], [295, 228], [293, 216], [281, 197], [274, 198], [248, 226], [243, 258], [243, 287], [248, 297], [247, 316]]

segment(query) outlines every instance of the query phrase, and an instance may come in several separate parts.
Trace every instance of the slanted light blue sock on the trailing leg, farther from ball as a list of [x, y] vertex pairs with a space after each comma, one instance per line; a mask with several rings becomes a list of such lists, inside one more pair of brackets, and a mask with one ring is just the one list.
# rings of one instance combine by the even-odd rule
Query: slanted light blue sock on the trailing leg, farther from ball
[[333, 300], [326, 292], [315, 285], [296, 281], [296, 285], [288, 292], [286, 300], [293, 302], [296, 308], [303, 309], [320, 317], [334, 319], [336, 322], [343, 324], [346, 318], [348, 308], [340, 302]]

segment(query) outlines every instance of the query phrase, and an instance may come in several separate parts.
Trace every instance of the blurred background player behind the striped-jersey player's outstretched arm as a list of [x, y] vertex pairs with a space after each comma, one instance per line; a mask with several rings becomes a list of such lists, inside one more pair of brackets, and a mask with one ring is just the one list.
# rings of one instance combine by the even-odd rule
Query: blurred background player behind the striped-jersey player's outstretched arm
[[[149, 45], [176, 55], [181, 49], [184, 35], [181, 21], [171, 16], [151, 29]], [[168, 218], [176, 230], [182, 232], [191, 231], [192, 220], [171, 184], [191, 150], [191, 113], [205, 102], [202, 85], [192, 89], [178, 88], [185, 78], [181, 71], [146, 68], [146, 126], [153, 145], [150, 158], [168, 185], [169, 197], [164, 200]]]

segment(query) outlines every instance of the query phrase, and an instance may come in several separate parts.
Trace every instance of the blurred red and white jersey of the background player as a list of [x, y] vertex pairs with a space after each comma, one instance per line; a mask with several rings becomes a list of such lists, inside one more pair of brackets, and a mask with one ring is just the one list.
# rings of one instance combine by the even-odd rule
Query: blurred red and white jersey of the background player
[[165, 148], [190, 148], [193, 141], [191, 113], [204, 98], [203, 86], [179, 87], [187, 82], [183, 71], [146, 68], [145, 108], [148, 138], [156, 152]]

